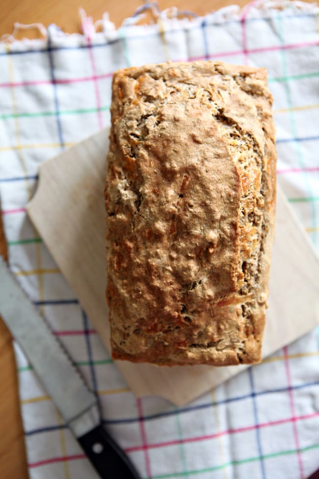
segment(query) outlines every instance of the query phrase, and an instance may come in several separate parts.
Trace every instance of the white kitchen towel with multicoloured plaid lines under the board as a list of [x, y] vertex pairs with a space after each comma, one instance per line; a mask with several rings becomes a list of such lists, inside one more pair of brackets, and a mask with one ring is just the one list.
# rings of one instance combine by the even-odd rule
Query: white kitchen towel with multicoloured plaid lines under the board
[[[145, 8], [157, 21], [135, 25]], [[38, 166], [109, 124], [118, 68], [205, 58], [264, 66], [279, 182], [318, 247], [318, 14], [315, 4], [259, 1], [188, 20], [152, 3], [118, 30], [107, 16], [94, 26], [83, 15], [81, 35], [51, 25], [43, 40], [6, 36], [0, 44], [0, 195], [10, 268], [99, 395], [106, 426], [143, 478], [297, 479], [318, 468], [318, 331], [186, 407], [134, 397], [27, 218]], [[30, 478], [96, 479], [15, 349]]]

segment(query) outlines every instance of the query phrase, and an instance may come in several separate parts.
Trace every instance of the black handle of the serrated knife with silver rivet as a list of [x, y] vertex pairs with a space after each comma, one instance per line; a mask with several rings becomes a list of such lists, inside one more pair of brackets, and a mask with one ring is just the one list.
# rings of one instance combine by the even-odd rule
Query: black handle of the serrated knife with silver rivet
[[102, 479], [141, 479], [126, 453], [101, 424], [78, 441]]

